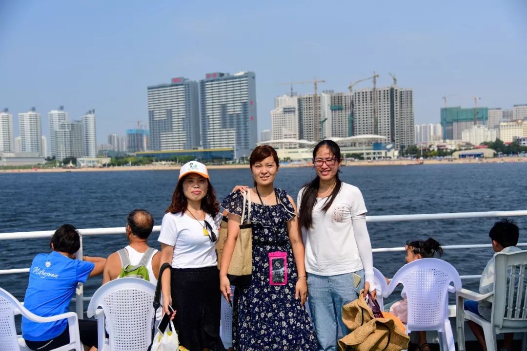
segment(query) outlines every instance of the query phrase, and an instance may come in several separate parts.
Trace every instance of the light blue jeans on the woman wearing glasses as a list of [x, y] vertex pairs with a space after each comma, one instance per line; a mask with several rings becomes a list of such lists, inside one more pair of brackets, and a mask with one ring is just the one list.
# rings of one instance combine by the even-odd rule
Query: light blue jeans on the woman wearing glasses
[[307, 273], [307, 301], [320, 351], [336, 351], [338, 339], [350, 333], [342, 322], [342, 307], [356, 300], [364, 287], [364, 270], [355, 273], [361, 278], [356, 288], [353, 273], [330, 276]]

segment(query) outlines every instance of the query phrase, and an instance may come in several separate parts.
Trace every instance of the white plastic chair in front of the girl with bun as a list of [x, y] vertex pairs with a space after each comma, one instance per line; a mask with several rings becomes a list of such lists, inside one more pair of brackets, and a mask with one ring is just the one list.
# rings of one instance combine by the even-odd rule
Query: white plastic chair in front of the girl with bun
[[383, 296], [388, 297], [398, 284], [403, 284], [408, 300], [406, 333], [437, 331], [441, 349], [454, 351], [448, 293], [461, 290], [461, 278], [454, 266], [439, 259], [419, 259], [405, 264], [395, 273]]

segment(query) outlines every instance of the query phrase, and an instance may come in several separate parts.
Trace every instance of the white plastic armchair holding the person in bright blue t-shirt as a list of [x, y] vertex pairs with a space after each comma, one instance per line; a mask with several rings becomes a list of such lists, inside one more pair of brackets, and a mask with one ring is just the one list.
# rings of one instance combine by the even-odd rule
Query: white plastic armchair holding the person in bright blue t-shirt
[[30, 350], [24, 339], [16, 335], [15, 315], [22, 314], [30, 321], [37, 323], [56, 322], [66, 319], [70, 328], [70, 343], [56, 348], [56, 351], [75, 349], [83, 351], [79, 337], [79, 319], [73, 312], [62, 313], [53, 317], [40, 317], [27, 310], [16, 298], [0, 287], [0, 350], [21, 351]]

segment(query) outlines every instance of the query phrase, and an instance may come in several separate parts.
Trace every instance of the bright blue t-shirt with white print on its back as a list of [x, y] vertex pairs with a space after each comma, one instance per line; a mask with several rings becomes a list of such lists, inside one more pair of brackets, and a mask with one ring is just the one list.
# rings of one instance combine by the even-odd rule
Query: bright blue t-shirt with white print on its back
[[[92, 262], [72, 260], [56, 251], [36, 255], [31, 263], [24, 307], [41, 317], [67, 312], [77, 283], [84, 283], [94, 267]], [[45, 341], [60, 335], [66, 326], [67, 319], [36, 323], [22, 317], [22, 337]]]

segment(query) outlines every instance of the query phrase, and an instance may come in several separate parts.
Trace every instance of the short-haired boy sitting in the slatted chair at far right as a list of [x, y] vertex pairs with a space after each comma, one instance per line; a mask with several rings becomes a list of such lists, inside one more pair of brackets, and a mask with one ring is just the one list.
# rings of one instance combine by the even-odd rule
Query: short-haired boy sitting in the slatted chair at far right
[[[518, 239], [520, 238], [520, 230], [518, 225], [513, 220], [502, 219], [494, 223], [489, 236], [492, 240], [492, 249], [494, 252], [516, 252], [521, 249], [516, 246]], [[510, 273], [509, 273], [510, 274]], [[494, 291], [494, 256], [491, 257], [480, 278], [480, 294], [488, 294]], [[492, 304], [488, 301], [465, 301], [465, 310], [482, 316], [483, 318], [490, 321]], [[472, 333], [476, 337], [477, 341], [481, 344], [483, 351], [487, 351], [485, 344], [485, 334], [483, 328], [472, 322], [467, 321]], [[504, 342], [501, 348], [502, 351], [510, 350], [512, 348], [513, 333], [504, 334]]]

